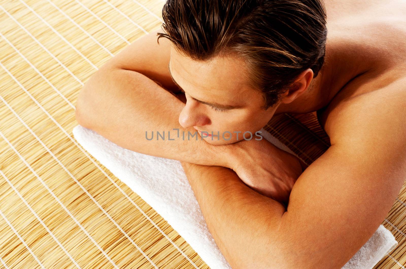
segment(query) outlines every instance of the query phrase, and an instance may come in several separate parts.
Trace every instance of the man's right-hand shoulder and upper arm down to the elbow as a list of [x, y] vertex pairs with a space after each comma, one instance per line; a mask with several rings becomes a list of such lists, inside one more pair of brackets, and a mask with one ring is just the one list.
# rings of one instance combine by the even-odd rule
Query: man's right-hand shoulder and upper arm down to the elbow
[[403, 77], [331, 108], [332, 145], [297, 179], [281, 219], [290, 251], [279, 254], [296, 267], [341, 268], [387, 216], [406, 179], [405, 100]]

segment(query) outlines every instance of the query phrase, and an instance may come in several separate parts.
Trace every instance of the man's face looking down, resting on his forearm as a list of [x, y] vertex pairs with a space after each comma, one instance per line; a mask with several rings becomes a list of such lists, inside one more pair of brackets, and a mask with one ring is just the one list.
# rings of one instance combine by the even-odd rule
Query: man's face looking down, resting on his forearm
[[[172, 48], [168, 67], [187, 100], [179, 123], [184, 128], [195, 128], [210, 144], [235, 143], [244, 139], [244, 132], [246, 139], [251, 137], [249, 132], [251, 139], [259, 139], [255, 132], [268, 123], [278, 107], [261, 109], [263, 97], [248, 86], [244, 62], [238, 58], [218, 57], [202, 63]], [[205, 137], [212, 132], [213, 136]]]

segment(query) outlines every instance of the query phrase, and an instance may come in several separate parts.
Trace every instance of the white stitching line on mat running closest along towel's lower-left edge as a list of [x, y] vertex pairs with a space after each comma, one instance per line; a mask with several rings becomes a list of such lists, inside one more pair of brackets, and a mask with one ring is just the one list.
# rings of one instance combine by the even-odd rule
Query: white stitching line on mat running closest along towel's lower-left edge
[[0, 62], [0, 66], [2, 66], [2, 68], [4, 70], [6, 70], [6, 72], [13, 78], [13, 80], [24, 90], [24, 92], [26, 92], [26, 94], [28, 94], [28, 96], [30, 96], [30, 98], [42, 109], [42, 111], [44, 111], [44, 113], [46, 115], [48, 115], [48, 117], [50, 117], [50, 119], [60, 128], [60, 130], [62, 130], [65, 135], [85, 154], [85, 156], [87, 158], [89, 158], [89, 160], [91, 160], [91, 162], [93, 162], [93, 164], [95, 164], [95, 166], [110, 180], [110, 182], [112, 182], [112, 184], [114, 186], [116, 186], [116, 188], [118, 190], [121, 191], [121, 193], [145, 216], [145, 218], [147, 218], [147, 220], [149, 220], [149, 222], [151, 222], [151, 224], [153, 224], [153, 226], [155, 226], [155, 228], [158, 229], [158, 231], [164, 235], [164, 237], [182, 254], [182, 256], [184, 256], [195, 268], [199, 268], [197, 267], [193, 261], [164, 233], [164, 231], [161, 230], [161, 228], [159, 228], [159, 226], [157, 224], [155, 224], [155, 222], [153, 222], [153, 220], [151, 220], [151, 218], [149, 218], [149, 216], [130, 198], [130, 196], [128, 196], [121, 188], [120, 186], [117, 185], [116, 182], [114, 182], [114, 180], [93, 160], [93, 158], [91, 158], [89, 156], [89, 154], [87, 154], [84, 149], [78, 144], [76, 143], [76, 141], [73, 140], [73, 138], [66, 132], [66, 130], [60, 126], [60, 124], [58, 124], [58, 122], [56, 122], [56, 120], [54, 119], [54, 117], [52, 117], [48, 111], [46, 111], [41, 104], [39, 104], [39, 102], [37, 100], [35, 100], [35, 98], [26, 90], [26, 88], [24, 88], [24, 86], [19, 83], [19, 81], [9, 72], [9, 70], [7, 70], [7, 68]]

